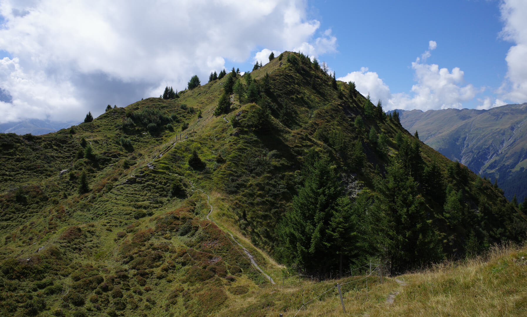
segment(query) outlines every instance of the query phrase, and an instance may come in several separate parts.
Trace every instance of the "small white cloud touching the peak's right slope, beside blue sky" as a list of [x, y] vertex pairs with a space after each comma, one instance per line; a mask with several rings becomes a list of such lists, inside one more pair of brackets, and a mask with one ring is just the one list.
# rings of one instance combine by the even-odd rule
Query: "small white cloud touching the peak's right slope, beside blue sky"
[[[387, 102], [390, 98], [390, 88], [386, 85], [376, 72], [368, 72], [368, 67], [361, 67], [360, 71], [348, 73], [344, 77], [337, 78], [343, 82], [355, 82], [357, 91], [366, 96], [368, 93], [374, 103], [383, 100]], [[383, 103], [384, 103], [383, 102]]]

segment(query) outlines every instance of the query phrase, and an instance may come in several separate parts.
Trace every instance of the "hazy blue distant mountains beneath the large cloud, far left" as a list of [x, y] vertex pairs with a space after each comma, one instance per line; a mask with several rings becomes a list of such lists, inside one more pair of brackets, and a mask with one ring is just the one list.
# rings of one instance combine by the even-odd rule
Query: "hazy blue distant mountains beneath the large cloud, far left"
[[0, 123], [0, 133], [16, 133], [20, 135], [31, 133], [33, 135], [41, 135], [56, 132], [77, 124], [80, 124], [80, 122], [57, 122], [30, 119], [19, 122]]

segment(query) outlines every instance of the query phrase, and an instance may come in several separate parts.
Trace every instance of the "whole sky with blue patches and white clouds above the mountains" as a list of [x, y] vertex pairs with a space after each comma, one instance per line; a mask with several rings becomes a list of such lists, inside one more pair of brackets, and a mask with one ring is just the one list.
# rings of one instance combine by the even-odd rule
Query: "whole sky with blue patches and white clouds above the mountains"
[[327, 62], [385, 110], [523, 103], [525, 16], [525, 0], [3, 0], [0, 123], [98, 115], [285, 50]]

